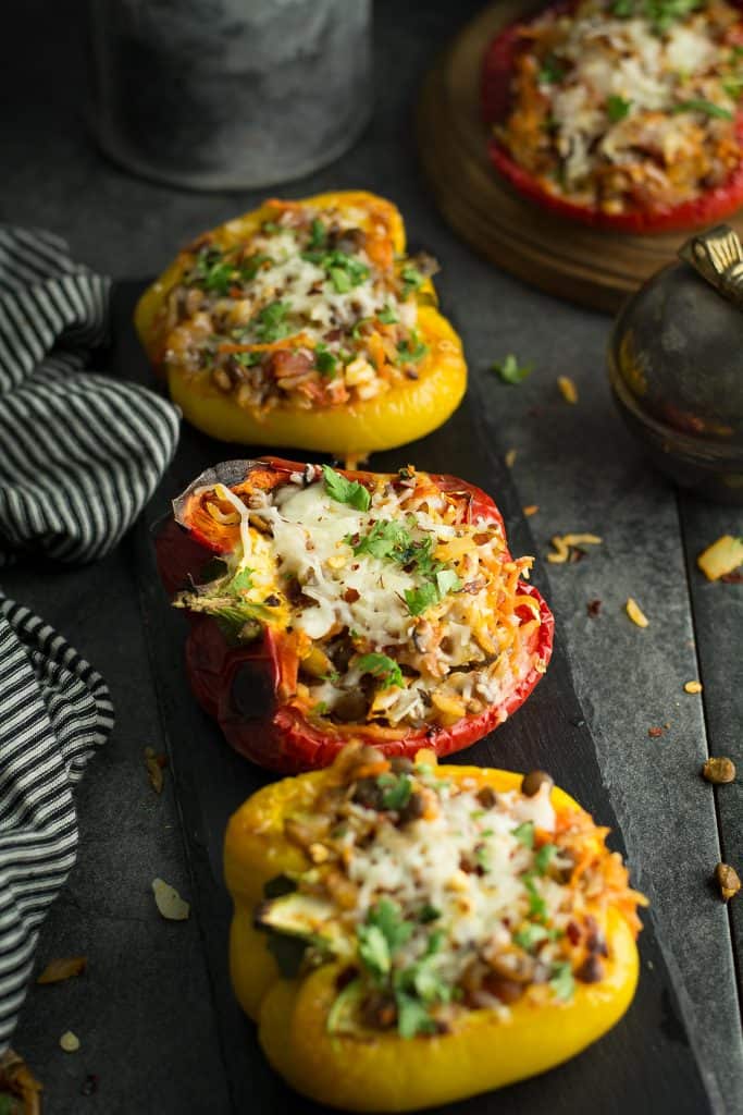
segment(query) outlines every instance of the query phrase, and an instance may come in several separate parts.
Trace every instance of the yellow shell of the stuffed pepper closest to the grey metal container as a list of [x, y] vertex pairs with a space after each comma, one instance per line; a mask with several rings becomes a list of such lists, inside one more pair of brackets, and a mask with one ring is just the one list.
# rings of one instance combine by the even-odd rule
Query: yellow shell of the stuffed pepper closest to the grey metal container
[[[207, 244], [209, 250], [222, 252], [250, 246], [266, 222], [275, 222], [282, 211], [302, 206], [321, 213], [323, 209], [332, 207], [342, 213], [359, 214], [365, 230], [366, 255], [371, 265], [388, 278], [405, 273], [404, 225], [391, 202], [364, 191], [319, 194], [292, 203], [267, 201], [260, 209], [204, 234], [182, 251], [145, 291], [136, 309], [135, 324], [149, 359], [156, 370], [167, 377], [170, 397], [188, 421], [224, 442], [291, 446], [351, 458], [404, 445], [429, 434], [459, 406], [467, 386], [467, 366], [461, 341], [438, 312], [430, 277], [423, 274], [414, 277], [416, 289], [411, 289], [405, 297], [405, 301], [413, 300], [417, 307], [414, 328], [418, 351], [413, 353], [417, 363], [410, 369], [410, 378], [402, 378], [389, 390], [368, 399], [329, 406], [313, 404], [312, 396], [309, 396], [302, 406], [280, 400], [278, 405], [268, 408], [262, 404], [238, 401], [239, 392], [217, 386], [208, 366], [187, 366], [183, 360], [168, 357], [168, 336], [173, 329], [168, 299], [194, 266], [198, 252], [205, 250]], [[235, 302], [248, 294], [250, 287], [226, 291], [226, 297]], [[384, 330], [383, 324], [379, 328]], [[332, 338], [333, 333], [329, 336]], [[263, 348], [291, 351], [296, 349], [301, 339], [300, 334], [290, 333]], [[387, 356], [382, 352], [379, 339], [374, 341], [377, 359], [382, 363], [392, 359], [389, 350]], [[307, 343], [320, 349], [316, 341]], [[239, 349], [241, 346], [233, 345], [232, 348]], [[261, 346], [253, 348], [260, 349]]]

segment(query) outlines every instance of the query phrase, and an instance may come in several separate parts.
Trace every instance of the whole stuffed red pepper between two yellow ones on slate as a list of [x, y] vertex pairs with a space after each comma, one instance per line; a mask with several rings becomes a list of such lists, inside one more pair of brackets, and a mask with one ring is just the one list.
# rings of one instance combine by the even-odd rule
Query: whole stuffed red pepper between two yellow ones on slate
[[531, 559], [511, 558], [492, 500], [456, 477], [237, 460], [174, 512], [158, 566], [190, 618], [192, 687], [261, 766], [326, 766], [350, 740], [448, 755], [547, 668]]

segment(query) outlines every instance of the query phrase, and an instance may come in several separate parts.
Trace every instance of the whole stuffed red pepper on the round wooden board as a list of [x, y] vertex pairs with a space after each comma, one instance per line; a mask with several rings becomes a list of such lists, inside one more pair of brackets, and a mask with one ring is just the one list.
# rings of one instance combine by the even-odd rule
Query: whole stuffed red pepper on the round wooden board
[[574, 0], [486, 54], [490, 156], [539, 205], [662, 232], [743, 204], [743, 19], [726, 0]]

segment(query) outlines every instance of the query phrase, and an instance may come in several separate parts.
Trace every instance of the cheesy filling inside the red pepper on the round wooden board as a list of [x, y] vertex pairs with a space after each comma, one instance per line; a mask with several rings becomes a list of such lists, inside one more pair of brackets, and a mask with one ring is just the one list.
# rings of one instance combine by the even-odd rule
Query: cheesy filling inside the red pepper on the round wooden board
[[722, 0], [657, 23], [639, 4], [583, 0], [530, 25], [499, 132], [554, 193], [607, 212], [677, 204], [739, 164], [740, 14]]

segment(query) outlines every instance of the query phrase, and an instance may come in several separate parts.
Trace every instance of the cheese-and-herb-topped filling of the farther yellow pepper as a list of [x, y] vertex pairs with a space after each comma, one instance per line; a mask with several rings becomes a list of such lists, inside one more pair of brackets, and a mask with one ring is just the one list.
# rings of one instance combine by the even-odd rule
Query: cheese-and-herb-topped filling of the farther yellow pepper
[[250, 239], [195, 246], [163, 311], [166, 365], [256, 411], [340, 407], [418, 379], [434, 261], [394, 256], [387, 207], [271, 206]]

